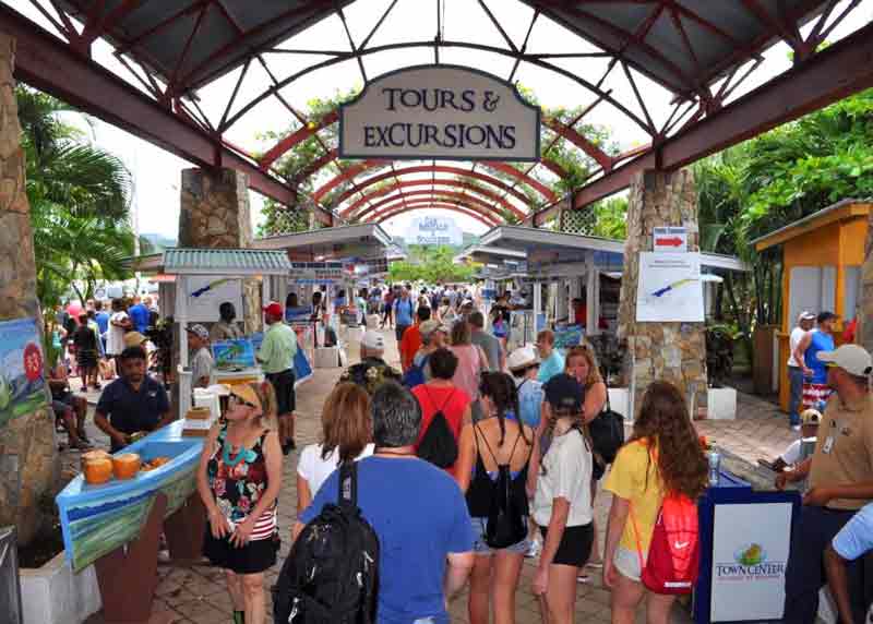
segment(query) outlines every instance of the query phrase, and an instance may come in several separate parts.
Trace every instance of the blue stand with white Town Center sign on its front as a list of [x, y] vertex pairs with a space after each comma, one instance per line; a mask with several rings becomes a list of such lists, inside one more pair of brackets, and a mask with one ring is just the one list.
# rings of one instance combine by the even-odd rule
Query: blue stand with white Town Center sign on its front
[[779, 621], [791, 533], [800, 515], [797, 491], [754, 491], [722, 471], [698, 501], [701, 576], [693, 616], [710, 622]]

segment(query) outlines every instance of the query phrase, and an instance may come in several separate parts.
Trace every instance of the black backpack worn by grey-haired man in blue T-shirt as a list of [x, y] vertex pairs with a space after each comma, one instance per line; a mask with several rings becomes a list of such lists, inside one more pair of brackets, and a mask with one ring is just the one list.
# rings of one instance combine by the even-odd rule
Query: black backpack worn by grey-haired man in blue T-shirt
[[291, 547], [273, 588], [277, 624], [372, 624], [379, 537], [358, 508], [358, 467], [339, 467], [338, 504], [324, 505]]

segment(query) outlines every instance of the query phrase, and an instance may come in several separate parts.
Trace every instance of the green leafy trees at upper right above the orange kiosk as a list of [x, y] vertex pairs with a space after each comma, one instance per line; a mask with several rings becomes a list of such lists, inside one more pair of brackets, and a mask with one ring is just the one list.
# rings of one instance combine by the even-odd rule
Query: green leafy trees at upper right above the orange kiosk
[[726, 274], [718, 305], [748, 337], [778, 323], [782, 267], [752, 240], [848, 197], [873, 196], [873, 89], [731, 147], [694, 166], [701, 247], [738, 255], [748, 277]]

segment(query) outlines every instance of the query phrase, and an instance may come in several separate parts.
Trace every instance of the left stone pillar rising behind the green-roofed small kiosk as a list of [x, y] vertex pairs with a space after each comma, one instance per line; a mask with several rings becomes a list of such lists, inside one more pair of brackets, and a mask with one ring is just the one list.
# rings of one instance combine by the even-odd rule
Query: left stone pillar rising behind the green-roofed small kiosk
[[[249, 177], [235, 169], [182, 170], [179, 247], [248, 248], [252, 245]], [[243, 310], [237, 314], [247, 333], [262, 328], [258, 280], [242, 285]]]

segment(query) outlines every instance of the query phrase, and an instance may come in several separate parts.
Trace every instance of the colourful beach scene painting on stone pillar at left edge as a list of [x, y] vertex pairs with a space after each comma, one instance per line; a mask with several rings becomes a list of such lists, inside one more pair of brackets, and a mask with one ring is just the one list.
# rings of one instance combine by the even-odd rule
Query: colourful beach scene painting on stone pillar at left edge
[[35, 319], [0, 323], [0, 428], [48, 404], [44, 362]]

